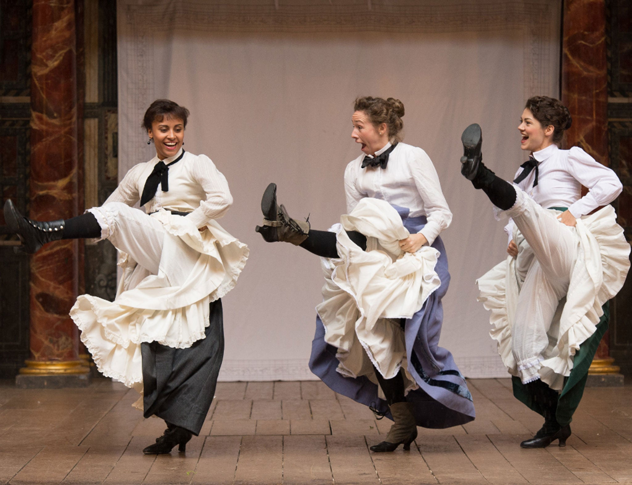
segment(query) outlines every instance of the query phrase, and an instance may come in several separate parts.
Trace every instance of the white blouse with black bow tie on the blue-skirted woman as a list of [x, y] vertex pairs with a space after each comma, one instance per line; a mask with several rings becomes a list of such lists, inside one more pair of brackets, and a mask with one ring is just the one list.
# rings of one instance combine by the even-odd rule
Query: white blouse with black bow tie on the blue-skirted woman
[[[387, 143], [375, 155], [388, 150]], [[347, 200], [347, 213], [364, 197], [386, 200], [391, 205], [410, 209], [410, 217], [425, 215], [428, 222], [420, 234], [434, 243], [439, 233], [452, 221], [452, 213], [447, 207], [446, 198], [441, 191], [439, 176], [430, 157], [421, 148], [398, 143], [389, 155], [386, 169], [380, 167], [362, 167], [362, 153], [349, 162], [344, 171], [344, 193]]]

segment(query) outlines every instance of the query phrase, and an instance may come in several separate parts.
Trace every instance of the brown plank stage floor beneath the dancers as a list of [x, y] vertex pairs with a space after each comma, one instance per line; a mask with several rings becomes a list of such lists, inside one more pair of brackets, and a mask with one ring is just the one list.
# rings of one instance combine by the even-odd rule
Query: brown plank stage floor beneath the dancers
[[143, 455], [164, 429], [133, 390], [22, 390], [0, 381], [0, 483], [632, 483], [632, 386], [589, 388], [565, 448], [522, 450], [542, 419], [507, 379], [470, 380], [477, 419], [371, 453], [391, 422], [319, 381], [219, 383], [186, 453]]

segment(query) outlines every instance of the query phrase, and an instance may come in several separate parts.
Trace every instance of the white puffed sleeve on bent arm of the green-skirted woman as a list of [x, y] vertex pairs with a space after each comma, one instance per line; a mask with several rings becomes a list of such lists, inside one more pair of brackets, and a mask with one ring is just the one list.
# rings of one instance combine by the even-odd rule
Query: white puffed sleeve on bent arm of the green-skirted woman
[[611, 203], [623, 191], [619, 177], [580, 147], [573, 147], [568, 151], [565, 169], [588, 188], [588, 193], [568, 208], [574, 217], [581, 217], [600, 205]]

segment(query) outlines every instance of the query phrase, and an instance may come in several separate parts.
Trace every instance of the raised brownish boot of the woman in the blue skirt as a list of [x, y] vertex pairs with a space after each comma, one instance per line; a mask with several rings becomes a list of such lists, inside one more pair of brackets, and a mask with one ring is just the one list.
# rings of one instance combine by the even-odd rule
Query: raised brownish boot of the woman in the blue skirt
[[310, 223], [306, 220], [298, 221], [288, 215], [283, 205], [276, 203], [276, 184], [269, 184], [261, 199], [261, 212], [264, 222], [255, 227], [268, 243], [284, 241], [295, 246], [303, 243], [310, 232]]

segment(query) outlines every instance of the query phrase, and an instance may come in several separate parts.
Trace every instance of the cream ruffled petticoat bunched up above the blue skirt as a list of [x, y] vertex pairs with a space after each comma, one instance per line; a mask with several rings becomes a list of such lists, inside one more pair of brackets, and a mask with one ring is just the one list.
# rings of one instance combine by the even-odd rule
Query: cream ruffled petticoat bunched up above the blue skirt
[[[325, 285], [316, 307], [325, 341], [337, 349], [339, 373], [377, 383], [374, 364], [390, 379], [406, 362], [399, 319], [411, 318], [441, 285], [434, 270], [439, 251], [423, 246], [415, 254], [403, 253], [399, 241], [410, 233], [389, 203], [374, 198], [363, 198], [334, 228], [341, 257], [321, 258]], [[346, 231], [367, 236], [367, 251]], [[416, 387], [406, 375], [406, 390]]]

